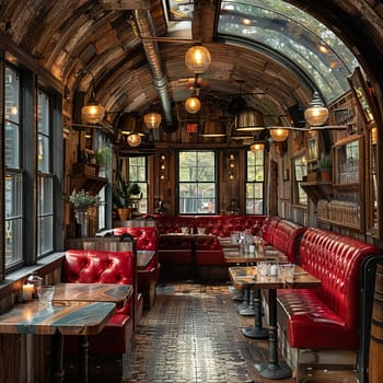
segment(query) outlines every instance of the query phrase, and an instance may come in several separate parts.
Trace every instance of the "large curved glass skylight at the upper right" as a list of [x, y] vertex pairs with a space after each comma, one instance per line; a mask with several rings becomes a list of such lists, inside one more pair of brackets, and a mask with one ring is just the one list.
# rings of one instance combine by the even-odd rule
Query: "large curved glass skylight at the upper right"
[[[312, 79], [329, 103], [349, 90], [359, 66], [346, 45], [309, 13], [281, 0], [223, 0], [218, 34], [242, 37], [263, 51], [272, 49]], [[248, 47], [248, 45], [246, 45]]]

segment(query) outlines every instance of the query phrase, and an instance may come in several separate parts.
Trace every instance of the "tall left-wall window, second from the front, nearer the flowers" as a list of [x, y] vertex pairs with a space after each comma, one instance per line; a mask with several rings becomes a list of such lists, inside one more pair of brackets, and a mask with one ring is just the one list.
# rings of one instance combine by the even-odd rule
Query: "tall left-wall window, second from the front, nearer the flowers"
[[37, 97], [37, 256], [54, 249], [54, 178], [51, 173], [51, 108], [49, 95]]

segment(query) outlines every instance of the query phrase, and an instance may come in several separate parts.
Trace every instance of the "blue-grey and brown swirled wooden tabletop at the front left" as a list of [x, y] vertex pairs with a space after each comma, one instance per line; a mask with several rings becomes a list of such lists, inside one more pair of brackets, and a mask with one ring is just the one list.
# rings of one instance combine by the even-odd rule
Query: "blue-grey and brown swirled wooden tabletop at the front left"
[[100, 333], [116, 305], [109, 302], [18, 303], [0, 315], [0, 333], [90, 335]]

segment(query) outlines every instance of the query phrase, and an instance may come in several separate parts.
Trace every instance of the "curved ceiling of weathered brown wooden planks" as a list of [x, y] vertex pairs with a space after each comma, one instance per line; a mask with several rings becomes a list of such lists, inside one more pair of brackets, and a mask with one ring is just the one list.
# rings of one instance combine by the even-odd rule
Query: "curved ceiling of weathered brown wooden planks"
[[[291, 3], [327, 25], [337, 25], [335, 32], [347, 34], [344, 39], [365, 65], [363, 69], [378, 85], [381, 96], [381, 3], [357, 0], [294, 0]], [[209, 1], [198, 4], [204, 12], [196, 12], [199, 15], [195, 21], [199, 25], [197, 34], [212, 56], [211, 69], [201, 76], [202, 100], [229, 104], [234, 94], [254, 92], [244, 96], [248, 105], [271, 117], [285, 116], [287, 108], [297, 103], [309, 104], [312, 89], [288, 66], [260, 51], [235, 44], [228, 48], [224, 42], [213, 42], [210, 31], [214, 7]], [[132, 32], [129, 8], [146, 12], [149, 5], [156, 36], [166, 34], [160, 0], [1, 0], [0, 28], [67, 86], [72, 100], [90, 91], [92, 77], [88, 71], [91, 71], [97, 98], [106, 111], [144, 112], [159, 103], [159, 94], [142, 42]], [[184, 63], [188, 45], [159, 43], [159, 48], [169, 93], [174, 102], [182, 102], [190, 93], [187, 79], [193, 78]], [[76, 102], [68, 103], [65, 111], [70, 118], [73, 118], [73, 104]], [[109, 119], [113, 120], [112, 114]]]

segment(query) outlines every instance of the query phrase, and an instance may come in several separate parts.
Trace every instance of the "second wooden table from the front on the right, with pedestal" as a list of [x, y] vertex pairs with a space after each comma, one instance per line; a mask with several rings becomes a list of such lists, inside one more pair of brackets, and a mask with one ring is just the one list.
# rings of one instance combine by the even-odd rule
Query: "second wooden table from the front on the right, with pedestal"
[[[263, 255], [254, 254], [241, 254], [241, 248], [228, 247], [223, 248], [224, 260], [227, 264], [243, 264], [249, 266], [262, 260], [286, 260], [287, 257], [283, 253], [268, 249], [265, 251]], [[235, 286], [234, 286], [235, 287]], [[248, 313], [254, 314], [254, 326], [242, 328], [244, 336], [253, 339], [267, 339], [269, 332], [264, 327], [262, 322], [262, 298], [260, 289], [254, 285], [248, 285], [245, 288], [241, 288], [247, 293], [249, 303], [248, 309], [240, 311], [240, 314], [248, 315]]]

